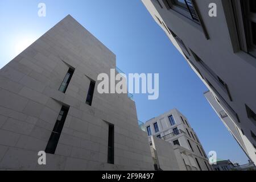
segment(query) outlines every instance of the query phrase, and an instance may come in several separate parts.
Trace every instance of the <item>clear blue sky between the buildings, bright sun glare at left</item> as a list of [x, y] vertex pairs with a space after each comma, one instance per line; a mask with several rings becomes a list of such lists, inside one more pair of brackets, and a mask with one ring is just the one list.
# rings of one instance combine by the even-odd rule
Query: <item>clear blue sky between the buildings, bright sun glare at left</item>
[[[38, 3], [46, 3], [39, 18]], [[1, 0], [0, 68], [49, 28], [71, 14], [117, 55], [128, 73], [159, 73], [159, 98], [135, 94], [138, 119], [147, 121], [177, 108], [191, 123], [205, 151], [240, 164], [247, 157], [208, 104], [206, 86], [154, 22], [140, 0]]]

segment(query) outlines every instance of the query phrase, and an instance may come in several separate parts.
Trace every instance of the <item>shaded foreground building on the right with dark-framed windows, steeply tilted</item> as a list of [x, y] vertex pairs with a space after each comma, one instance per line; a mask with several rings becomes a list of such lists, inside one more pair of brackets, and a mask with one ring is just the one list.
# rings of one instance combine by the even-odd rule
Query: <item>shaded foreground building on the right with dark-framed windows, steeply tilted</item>
[[[142, 0], [214, 99], [256, 148], [256, 1]], [[213, 11], [216, 10], [216, 16]], [[255, 163], [255, 151], [248, 151]]]

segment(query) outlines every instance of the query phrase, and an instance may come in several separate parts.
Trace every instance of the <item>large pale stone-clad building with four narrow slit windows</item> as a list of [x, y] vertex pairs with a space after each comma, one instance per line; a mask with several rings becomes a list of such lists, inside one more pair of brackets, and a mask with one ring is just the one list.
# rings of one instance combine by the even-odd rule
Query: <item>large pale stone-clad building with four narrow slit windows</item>
[[[115, 55], [68, 15], [0, 70], [0, 169], [154, 170], [127, 94], [100, 94]], [[46, 165], [39, 165], [39, 151]]]

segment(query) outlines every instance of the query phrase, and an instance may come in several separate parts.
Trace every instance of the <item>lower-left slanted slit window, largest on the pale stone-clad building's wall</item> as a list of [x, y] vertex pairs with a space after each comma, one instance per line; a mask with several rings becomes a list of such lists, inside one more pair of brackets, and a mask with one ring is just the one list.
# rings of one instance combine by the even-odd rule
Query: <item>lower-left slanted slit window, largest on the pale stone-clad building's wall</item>
[[68, 110], [69, 110], [69, 107], [66, 107], [66, 106], [61, 107], [60, 113], [57, 117], [57, 121], [56, 121], [56, 123], [53, 127], [51, 137], [49, 138], [47, 146], [46, 146], [45, 151], [48, 154], [54, 154], [55, 153], [57, 144], [58, 144], [59, 139], [60, 139], [60, 134], [61, 134], [61, 131], [62, 131], [63, 126], [64, 126], [65, 119], [68, 115]]

